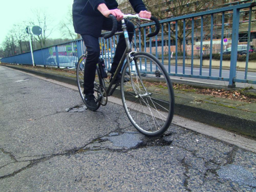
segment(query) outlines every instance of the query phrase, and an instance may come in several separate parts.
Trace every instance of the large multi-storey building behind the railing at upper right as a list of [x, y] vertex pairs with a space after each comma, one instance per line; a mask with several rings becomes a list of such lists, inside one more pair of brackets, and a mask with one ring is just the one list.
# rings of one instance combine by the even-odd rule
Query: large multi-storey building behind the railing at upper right
[[[134, 13], [129, 1], [119, 0], [119, 8], [125, 14]], [[193, 14], [195, 12], [202, 12], [211, 9], [238, 5], [241, 3], [249, 3], [253, 1], [234, 1], [234, 0], [216, 0], [210, 2], [209, 0], [190, 0], [190, 1], [175, 1], [175, 0], [145, 0], [144, 3], [147, 10], [152, 12], [154, 16], [157, 16], [160, 20], [175, 18], [181, 15]], [[250, 32], [250, 44], [256, 46], [256, 9], [251, 12], [251, 32]], [[212, 37], [214, 42], [220, 42], [222, 37], [222, 13], [214, 14], [213, 16], [213, 29]], [[203, 41], [207, 42], [210, 40], [211, 30], [210, 23], [211, 15], [203, 17]], [[233, 23], [233, 12], [228, 11], [224, 14], [224, 38], [231, 40], [232, 36], [232, 23]], [[164, 45], [167, 44], [168, 37], [167, 32], [170, 29], [175, 33], [175, 21], [164, 26]], [[178, 24], [180, 25], [180, 24]], [[186, 21], [186, 45], [191, 45], [192, 36], [190, 33], [192, 29], [192, 22]], [[248, 41], [248, 28], [249, 28], [249, 8], [240, 10], [240, 26], [239, 26], [239, 43], [246, 43]], [[201, 40], [201, 17], [194, 18], [194, 45]], [[219, 41], [218, 41], [219, 40]], [[171, 36], [171, 45], [175, 45], [175, 37]], [[153, 42], [154, 46], [154, 42]]]

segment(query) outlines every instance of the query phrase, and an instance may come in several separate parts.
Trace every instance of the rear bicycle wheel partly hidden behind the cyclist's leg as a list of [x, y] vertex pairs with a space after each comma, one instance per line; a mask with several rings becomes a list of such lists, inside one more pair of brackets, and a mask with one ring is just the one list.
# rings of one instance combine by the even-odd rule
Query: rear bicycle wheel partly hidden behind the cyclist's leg
[[[86, 59], [86, 55], [82, 55], [79, 58], [79, 62], [77, 63], [76, 66], [76, 81], [77, 81], [77, 87], [79, 90], [79, 94], [81, 96], [81, 99], [83, 100], [84, 104], [85, 104], [85, 99], [84, 99], [84, 88], [83, 88], [83, 84], [84, 84], [84, 65], [85, 65], [85, 59]], [[99, 74], [99, 69], [98, 66], [96, 67], [96, 77], [94, 80], [94, 91], [98, 91], [98, 87], [99, 86], [103, 86], [104, 84], [104, 80], [101, 78], [100, 74]], [[94, 94], [94, 96], [97, 98], [97, 94]], [[101, 106], [101, 103], [97, 103], [97, 109]]]

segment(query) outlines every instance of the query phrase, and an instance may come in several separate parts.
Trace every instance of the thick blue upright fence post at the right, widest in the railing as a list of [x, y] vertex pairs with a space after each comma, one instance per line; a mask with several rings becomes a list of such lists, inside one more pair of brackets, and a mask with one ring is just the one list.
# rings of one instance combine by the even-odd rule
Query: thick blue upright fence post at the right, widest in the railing
[[236, 82], [234, 81], [234, 79], [236, 78], [239, 19], [240, 19], [240, 10], [238, 8], [235, 8], [233, 9], [232, 45], [231, 45], [231, 59], [230, 59], [228, 88], [236, 87]]

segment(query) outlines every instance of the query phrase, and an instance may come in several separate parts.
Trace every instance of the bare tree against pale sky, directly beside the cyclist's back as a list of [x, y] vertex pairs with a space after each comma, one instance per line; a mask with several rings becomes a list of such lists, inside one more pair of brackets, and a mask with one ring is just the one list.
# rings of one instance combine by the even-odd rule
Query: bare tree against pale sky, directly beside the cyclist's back
[[72, 38], [72, 40], [81, 38], [80, 34], [75, 33], [71, 8], [69, 8], [66, 18], [60, 21], [59, 30], [63, 37]]

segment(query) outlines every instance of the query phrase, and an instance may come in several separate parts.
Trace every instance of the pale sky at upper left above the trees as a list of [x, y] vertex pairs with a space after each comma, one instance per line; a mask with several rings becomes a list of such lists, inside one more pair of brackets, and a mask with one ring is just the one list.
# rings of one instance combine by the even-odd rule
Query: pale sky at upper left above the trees
[[23, 21], [33, 18], [32, 10], [35, 9], [45, 9], [47, 14], [53, 19], [51, 25], [55, 25], [56, 27], [49, 38], [61, 38], [57, 25], [67, 15], [68, 9], [72, 8], [72, 4], [73, 0], [2, 1], [0, 6], [0, 46], [13, 25], [23, 23]]

